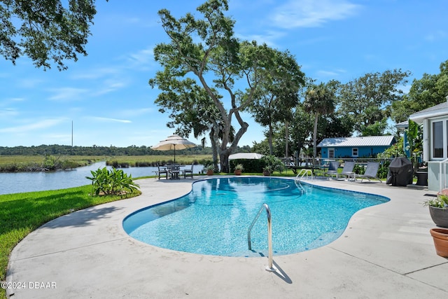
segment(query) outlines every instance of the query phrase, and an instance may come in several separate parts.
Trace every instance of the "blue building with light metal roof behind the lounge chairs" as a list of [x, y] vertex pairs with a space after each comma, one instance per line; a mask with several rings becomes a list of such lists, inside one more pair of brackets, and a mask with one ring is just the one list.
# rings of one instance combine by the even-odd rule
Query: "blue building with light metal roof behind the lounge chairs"
[[395, 144], [394, 136], [325, 138], [317, 145], [324, 159], [370, 158]]

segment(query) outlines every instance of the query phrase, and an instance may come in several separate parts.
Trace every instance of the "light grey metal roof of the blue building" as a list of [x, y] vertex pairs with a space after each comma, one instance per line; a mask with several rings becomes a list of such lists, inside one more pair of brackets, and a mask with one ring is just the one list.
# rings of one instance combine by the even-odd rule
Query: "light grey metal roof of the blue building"
[[393, 136], [336, 137], [323, 139], [317, 147], [390, 146], [394, 142]]

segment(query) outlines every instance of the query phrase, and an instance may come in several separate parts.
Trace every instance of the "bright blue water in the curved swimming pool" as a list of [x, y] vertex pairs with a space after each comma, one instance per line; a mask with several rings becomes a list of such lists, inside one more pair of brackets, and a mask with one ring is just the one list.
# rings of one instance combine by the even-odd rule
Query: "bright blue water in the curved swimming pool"
[[230, 177], [193, 183], [176, 200], [134, 212], [123, 221], [135, 239], [176, 251], [214, 256], [267, 256], [267, 216], [272, 214], [274, 255], [297, 253], [328, 244], [345, 230], [356, 211], [388, 198], [302, 183], [290, 179]]

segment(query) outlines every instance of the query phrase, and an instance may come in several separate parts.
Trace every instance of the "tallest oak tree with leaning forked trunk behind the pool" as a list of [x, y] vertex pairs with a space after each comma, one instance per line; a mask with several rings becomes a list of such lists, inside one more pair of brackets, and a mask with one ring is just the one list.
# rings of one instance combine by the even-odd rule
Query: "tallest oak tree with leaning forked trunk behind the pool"
[[[163, 70], [149, 83], [162, 90], [160, 97], [172, 92], [174, 87], [162, 84], [160, 74], [171, 77], [172, 82], [193, 79], [207, 92], [209, 105], [214, 106], [211, 111], [218, 112], [217, 119], [209, 124], [214, 131], [211, 142], [218, 145], [221, 171], [229, 172], [228, 157], [248, 128], [241, 111], [253, 103], [260, 81], [274, 71], [275, 64], [271, 48], [235, 38], [235, 21], [224, 15], [228, 1], [209, 0], [197, 11], [201, 19], [187, 13], [179, 20], [166, 9], [159, 11], [170, 42], [155, 46], [154, 57]], [[183, 97], [178, 100], [182, 101]], [[237, 126], [232, 124], [235, 119]], [[236, 130], [233, 139], [232, 127]]]

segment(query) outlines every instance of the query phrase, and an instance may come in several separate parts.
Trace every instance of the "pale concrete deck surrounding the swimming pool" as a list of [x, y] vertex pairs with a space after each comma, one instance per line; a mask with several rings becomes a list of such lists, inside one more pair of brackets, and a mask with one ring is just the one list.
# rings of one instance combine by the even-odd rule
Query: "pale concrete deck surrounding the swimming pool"
[[123, 230], [132, 211], [180, 197], [192, 182], [139, 180], [139, 197], [76, 211], [31, 232], [11, 253], [6, 281], [23, 288], [8, 289], [8, 298], [448, 298], [448, 259], [435, 254], [435, 225], [421, 204], [434, 192], [315, 180], [391, 201], [358, 211], [335, 242], [274, 256], [278, 270], [267, 272], [266, 257], [160, 249]]

